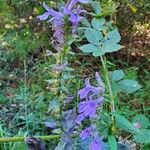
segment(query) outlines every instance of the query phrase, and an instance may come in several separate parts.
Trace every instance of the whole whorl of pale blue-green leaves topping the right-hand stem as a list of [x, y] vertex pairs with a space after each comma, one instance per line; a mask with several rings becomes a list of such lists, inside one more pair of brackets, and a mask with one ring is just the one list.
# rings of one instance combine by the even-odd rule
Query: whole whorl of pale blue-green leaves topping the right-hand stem
[[[98, 57], [122, 48], [118, 44], [121, 40], [118, 30], [113, 29], [112, 31], [107, 31], [109, 29], [109, 23], [106, 23], [104, 18], [93, 18], [91, 24], [94, 28], [87, 28], [85, 30], [85, 37], [90, 45], [81, 46], [80, 49], [83, 52], [92, 52], [93, 56]], [[108, 33], [104, 34], [106, 31]]]

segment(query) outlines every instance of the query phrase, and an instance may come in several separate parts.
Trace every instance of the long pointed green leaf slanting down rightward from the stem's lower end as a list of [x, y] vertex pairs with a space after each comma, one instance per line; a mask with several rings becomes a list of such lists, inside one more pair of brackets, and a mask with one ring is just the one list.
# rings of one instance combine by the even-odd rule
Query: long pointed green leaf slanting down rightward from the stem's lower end
[[113, 116], [115, 117], [117, 126], [122, 129], [125, 130], [127, 132], [134, 132], [134, 133], [138, 133], [139, 130], [133, 126], [133, 124], [128, 121], [124, 116], [118, 114], [118, 113], [113, 113]]

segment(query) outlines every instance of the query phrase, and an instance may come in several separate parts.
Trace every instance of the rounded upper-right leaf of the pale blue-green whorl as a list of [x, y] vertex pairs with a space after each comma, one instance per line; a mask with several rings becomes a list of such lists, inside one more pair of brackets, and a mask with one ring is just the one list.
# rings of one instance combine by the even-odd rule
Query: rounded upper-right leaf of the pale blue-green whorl
[[120, 42], [121, 36], [118, 30], [110, 31], [107, 35], [107, 39], [109, 40], [109, 43], [116, 44]]

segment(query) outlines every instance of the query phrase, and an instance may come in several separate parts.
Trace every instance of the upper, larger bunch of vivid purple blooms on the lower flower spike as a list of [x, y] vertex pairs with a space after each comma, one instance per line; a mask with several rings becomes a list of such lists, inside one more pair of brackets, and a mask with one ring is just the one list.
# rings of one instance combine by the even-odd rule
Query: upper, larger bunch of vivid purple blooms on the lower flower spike
[[104, 91], [103, 82], [99, 74], [95, 73], [96, 80], [98, 82], [98, 87], [92, 86], [89, 79], [85, 80], [85, 87], [79, 91], [80, 99], [85, 99], [78, 105], [79, 115], [77, 116], [76, 122], [81, 123], [85, 118], [95, 118], [96, 110], [103, 103], [103, 96], [100, 93]]

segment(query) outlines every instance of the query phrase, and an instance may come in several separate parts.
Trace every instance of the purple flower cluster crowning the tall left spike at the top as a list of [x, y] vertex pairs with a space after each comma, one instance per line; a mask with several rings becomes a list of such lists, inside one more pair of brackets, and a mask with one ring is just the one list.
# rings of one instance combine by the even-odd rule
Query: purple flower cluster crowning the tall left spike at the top
[[61, 9], [62, 11], [55, 11], [43, 3], [43, 7], [46, 12], [37, 18], [40, 20], [47, 20], [49, 19], [49, 16], [51, 16], [48, 22], [52, 24], [52, 30], [54, 31], [53, 37], [56, 41], [56, 44], [54, 45], [56, 50], [60, 50], [61, 45], [64, 45], [64, 25], [66, 18], [69, 22], [71, 22], [72, 33], [76, 31], [78, 23], [83, 19], [80, 15], [86, 11], [81, 9], [80, 5], [75, 7], [78, 2], [88, 3], [89, 0], [68, 0], [66, 6], [63, 6]]

